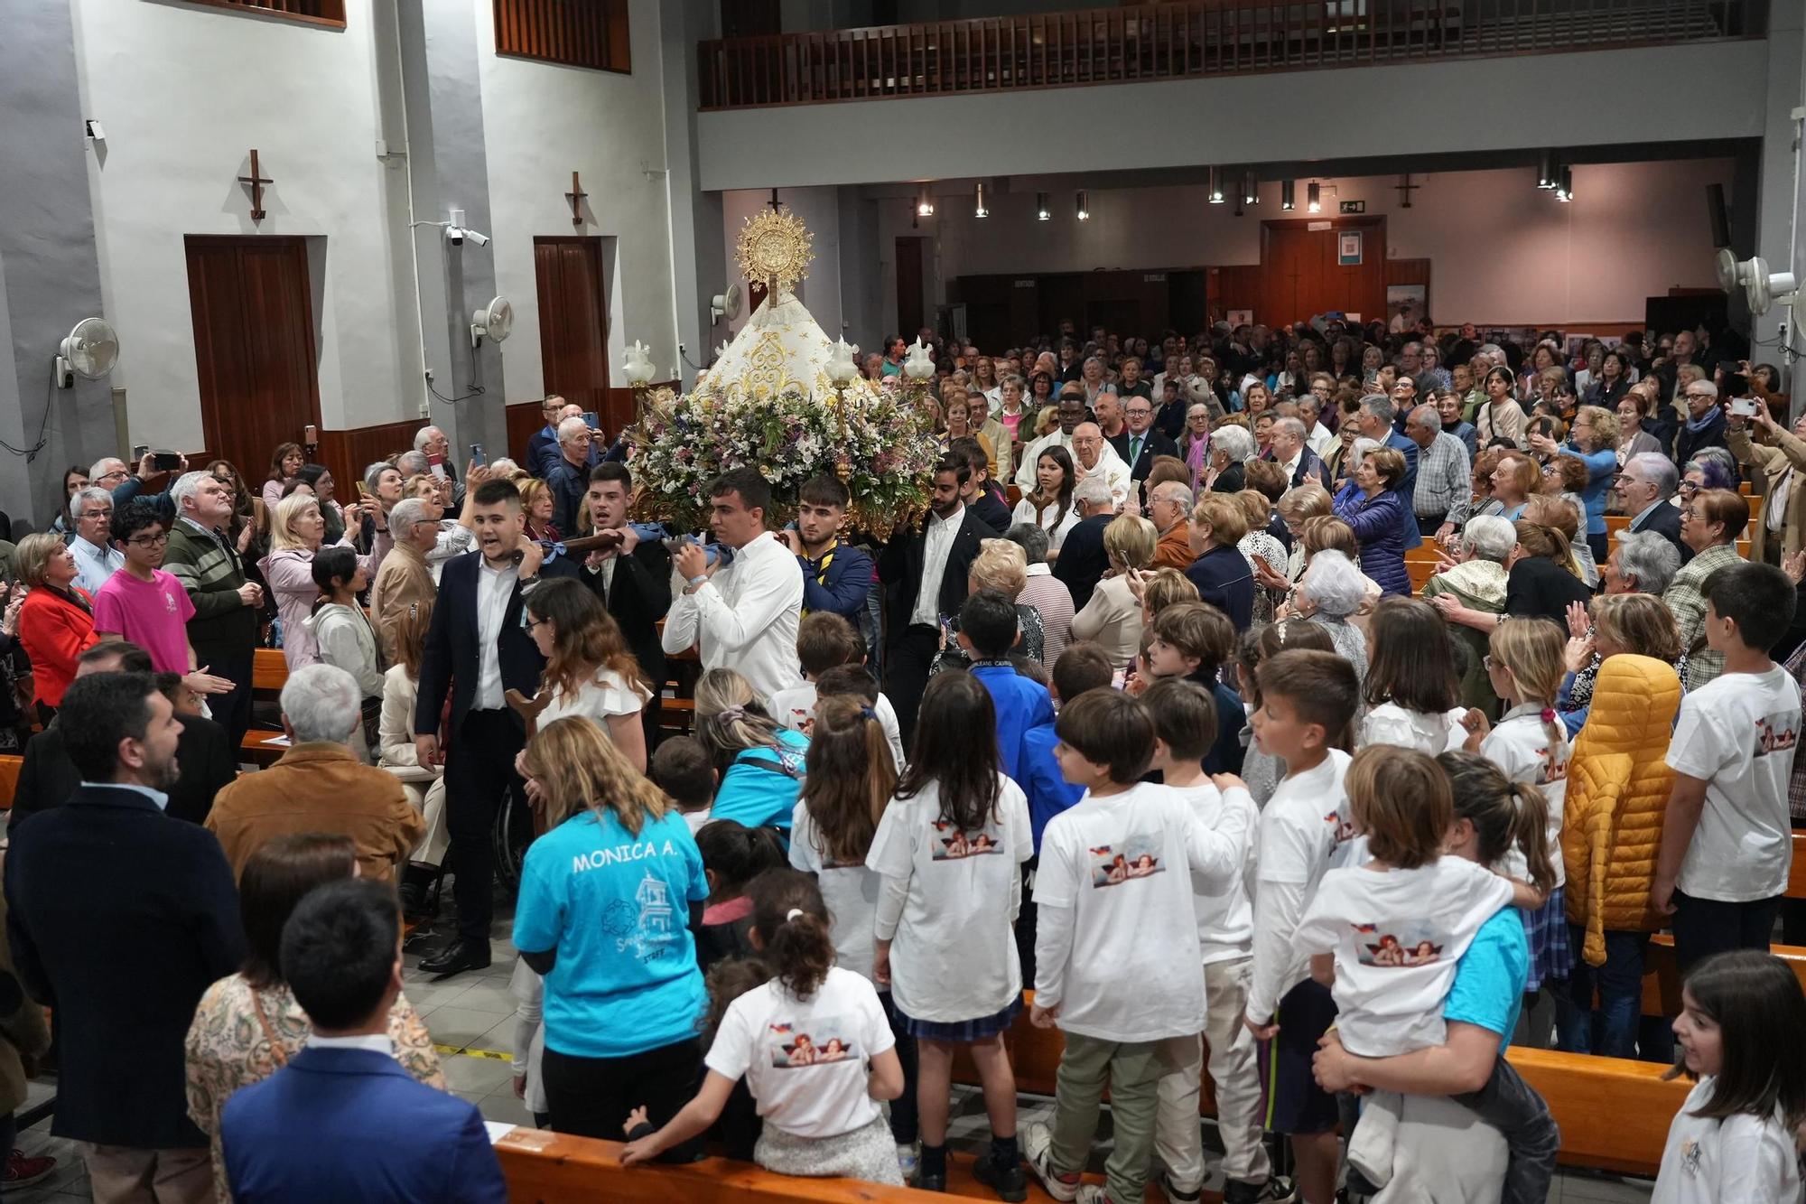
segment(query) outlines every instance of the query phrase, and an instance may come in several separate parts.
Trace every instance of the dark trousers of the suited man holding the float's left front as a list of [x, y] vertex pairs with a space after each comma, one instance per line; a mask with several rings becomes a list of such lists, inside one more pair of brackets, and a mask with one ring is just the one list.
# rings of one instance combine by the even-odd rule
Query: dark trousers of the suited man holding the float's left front
[[471, 710], [446, 752], [446, 835], [452, 841], [446, 864], [455, 875], [457, 936], [471, 947], [489, 947], [495, 815], [509, 792], [517, 803], [526, 803], [526, 786], [515, 774], [515, 754], [524, 745], [526, 732], [513, 712]]

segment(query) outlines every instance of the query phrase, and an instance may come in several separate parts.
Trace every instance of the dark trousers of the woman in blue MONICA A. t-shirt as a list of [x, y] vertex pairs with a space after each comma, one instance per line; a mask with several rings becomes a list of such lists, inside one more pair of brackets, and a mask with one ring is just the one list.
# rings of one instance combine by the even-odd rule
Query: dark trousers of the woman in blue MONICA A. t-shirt
[[[545, 1108], [553, 1130], [578, 1137], [621, 1141], [627, 1114], [645, 1106], [647, 1123], [665, 1128], [695, 1094], [703, 1045], [684, 1038], [627, 1058], [576, 1058], [547, 1047], [544, 1061]], [[661, 1162], [692, 1162], [697, 1143], [666, 1150]]]

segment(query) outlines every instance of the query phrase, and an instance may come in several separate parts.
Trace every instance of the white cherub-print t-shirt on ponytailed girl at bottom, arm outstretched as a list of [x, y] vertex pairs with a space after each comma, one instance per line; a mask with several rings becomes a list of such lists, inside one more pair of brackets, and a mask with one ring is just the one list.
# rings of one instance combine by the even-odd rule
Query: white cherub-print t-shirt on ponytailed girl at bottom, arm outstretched
[[796, 1137], [838, 1137], [878, 1119], [867, 1061], [896, 1045], [878, 991], [838, 965], [807, 1000], [777, 980], [728, 1005], [703, 1059], [746, 1076], [759, 1115]]

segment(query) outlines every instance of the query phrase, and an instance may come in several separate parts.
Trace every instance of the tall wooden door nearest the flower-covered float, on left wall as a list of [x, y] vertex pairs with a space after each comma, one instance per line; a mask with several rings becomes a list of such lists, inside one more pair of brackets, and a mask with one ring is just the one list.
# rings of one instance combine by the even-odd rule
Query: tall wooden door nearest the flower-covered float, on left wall
[[[609, 304], [601, 287], [601, 239], [535, 239], [540, 293], [540, 363], [545, 392], [601, 416], [614, 436], [634, 421], [632, 401], [609, 403]], [[616, 412], [619, 410], [619, 412]]]

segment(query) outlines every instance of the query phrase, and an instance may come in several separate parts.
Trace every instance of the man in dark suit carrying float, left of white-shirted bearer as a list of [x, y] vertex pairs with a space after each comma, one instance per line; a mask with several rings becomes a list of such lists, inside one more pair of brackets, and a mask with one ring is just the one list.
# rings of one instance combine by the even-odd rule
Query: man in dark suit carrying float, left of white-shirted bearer
[[[643, 530], [627, 521], [632, 499], [634, 475], [627, 465], [610, 461], [589, 470], [589, 492], [583, 494], [589, 530], [598, 535], [612, 531], [621, 537], [621, 546], [589, 553], [583, 560], [583, 578], [614, 615], [621, 638], [627, 640], [627, 651], [657, 691], [665, 687], [659, 620], [672, 607], [672, 553], [663, 541], [645, 539]], [[641, 707], [639, 718], [647, 729], [647, 748], [652, 748], [652, 734], [659, 723], [657, 701]]]

